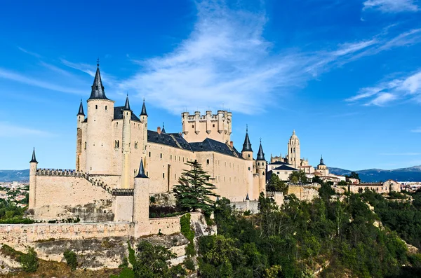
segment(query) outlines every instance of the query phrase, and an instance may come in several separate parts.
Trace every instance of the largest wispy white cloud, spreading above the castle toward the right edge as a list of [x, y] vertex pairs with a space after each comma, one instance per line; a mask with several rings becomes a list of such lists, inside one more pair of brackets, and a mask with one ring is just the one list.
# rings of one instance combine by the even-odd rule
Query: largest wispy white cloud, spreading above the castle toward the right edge
[[[421, 29], [390, 39], [389, 30], [371, 39], [342, 43], [331, 50], [274, 53], [263, 37], [264, 12], [235, 10], [215, 1], [197, 4], [198, 20], [192, 34], [171, 53], [147, 60], [133, 60], [141, 69], [121, 81], [121, 91], [138, 92], [161, 108], [179, 113], [184, 109], [227, 109], [241, 113], [264, 111], [291, 88], [348, 62], [402, 46]], [[385, 101], [387, 95], [377, 99]], [[390, 96], [389, 96], [390, 98]]]

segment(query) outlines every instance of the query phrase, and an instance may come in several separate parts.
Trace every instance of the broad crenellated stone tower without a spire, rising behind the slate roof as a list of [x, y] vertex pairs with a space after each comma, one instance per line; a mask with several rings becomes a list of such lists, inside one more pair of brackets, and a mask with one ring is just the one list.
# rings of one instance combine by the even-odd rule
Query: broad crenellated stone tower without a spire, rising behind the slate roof
[[212, 111], [206, 111], [201, 116], [199, 111], [190, 115], [188, 112], [181, 114], [182, 133], [188, 142], [201, 142], [206, 138], [227, 143], [231, 139], [232, 113], [218, 110], [216, 115]]

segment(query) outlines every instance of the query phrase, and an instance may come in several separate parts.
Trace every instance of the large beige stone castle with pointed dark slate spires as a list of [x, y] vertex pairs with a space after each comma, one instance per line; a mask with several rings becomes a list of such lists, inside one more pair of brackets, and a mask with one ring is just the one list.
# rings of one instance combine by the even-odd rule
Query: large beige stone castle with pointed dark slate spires
[[[248, 130], [241, 152], [234, 148], [232, 113], [182, 113], [182, 132], [148, 130], [145, 100], [137, 116], [128, 96], [123, 106], [105, 95], [97, 65], [87, 100], [77, 113], [76, 167], [38, 169], [30, 162], [29, 209], [36, 220], [78, 215], [81, 221], [147, 220], [149, 195], [171, 193], [186, 162], [197, 161], [213, 178], [216, 193], [233, 202], [258, 199], [265, 191], [267, 162]], [[140, 166], [139, 166], [140, 165]]]

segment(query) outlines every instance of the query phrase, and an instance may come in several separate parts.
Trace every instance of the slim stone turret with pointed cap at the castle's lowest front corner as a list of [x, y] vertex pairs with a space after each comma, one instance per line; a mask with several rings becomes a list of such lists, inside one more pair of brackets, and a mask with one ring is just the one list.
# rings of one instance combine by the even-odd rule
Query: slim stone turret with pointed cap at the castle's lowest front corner
[[[133, 222], [135, 223], [135, 237], [147, 235], [145, 230], [149, 221], [149, 178], [145, 174], [143, 160], [140, 159], [138, 175], [135, 176], [135, 188], [133, 191]], [[147, 223], [149, 224], [149, 223]]]

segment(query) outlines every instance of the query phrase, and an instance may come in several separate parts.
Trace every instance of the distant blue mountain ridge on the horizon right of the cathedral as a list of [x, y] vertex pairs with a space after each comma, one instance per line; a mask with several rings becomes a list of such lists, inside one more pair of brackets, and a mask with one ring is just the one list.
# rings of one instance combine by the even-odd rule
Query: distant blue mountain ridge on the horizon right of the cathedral
[[346, 169], [329, 167], [332, 174], [349, 175], [356, 172], [362, 182], [370, 183], [376, 181], [387, 181], [393, 179], [395, 181], [421, 181], [421, 166], [413, 166], [409, 168], [383, 170], [383, 169], [366, 169], [360, 171], [350, 171]]

